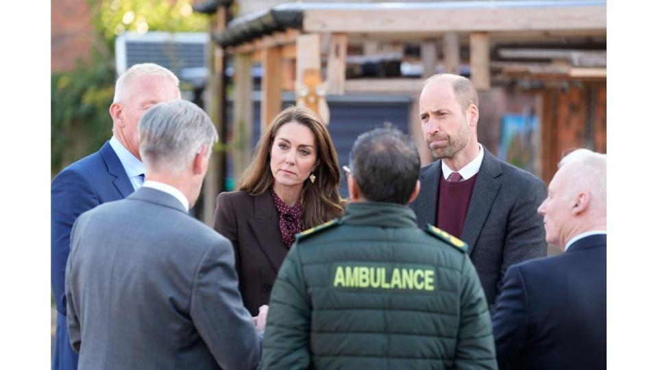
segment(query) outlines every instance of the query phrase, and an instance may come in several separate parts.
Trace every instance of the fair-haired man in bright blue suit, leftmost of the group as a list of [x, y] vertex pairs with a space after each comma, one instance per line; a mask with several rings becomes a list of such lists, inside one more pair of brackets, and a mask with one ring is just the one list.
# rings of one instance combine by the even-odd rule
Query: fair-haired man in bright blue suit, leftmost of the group
[[77, 369], [77, 354], [66, 331], [64, 269], [69, 258], [71, 226], [87, 210], [123, 199], [139, 188], [144, 166], [138, 152], [137, 123], [160, 101], [180, 99], [178, 77], [157, 64], [135, 64], [114, 88], [110, 106], [112, 138], [97, 153], [63, 169], [51, 184], [51, 286], [57, 306], [53, 370]]

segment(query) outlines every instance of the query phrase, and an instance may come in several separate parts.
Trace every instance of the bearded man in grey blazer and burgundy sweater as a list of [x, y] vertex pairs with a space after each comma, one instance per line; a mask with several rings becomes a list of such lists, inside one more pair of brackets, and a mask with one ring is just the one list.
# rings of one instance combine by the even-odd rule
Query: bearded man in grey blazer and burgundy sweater
[[493, 313], [507, 267], [546, 256], [537, 214], [546, 184], [478, 143], [478, 103], [465, 77], [443, 74], [426, 81], [419, 114], [438, 160], [421, 169], [420, 194], [411, 208], [419, 226], [435, 225], [467, 243]]

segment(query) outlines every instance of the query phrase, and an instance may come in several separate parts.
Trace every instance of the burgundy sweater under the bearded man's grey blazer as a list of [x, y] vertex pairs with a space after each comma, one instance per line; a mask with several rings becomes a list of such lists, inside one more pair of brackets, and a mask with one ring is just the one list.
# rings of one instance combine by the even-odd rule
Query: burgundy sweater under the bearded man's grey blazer
[[468, 204], [471, 201], [477, 173], [466, 181], [448, 182], [441, 174], [437, 197], [437, 227], [461, 238]]

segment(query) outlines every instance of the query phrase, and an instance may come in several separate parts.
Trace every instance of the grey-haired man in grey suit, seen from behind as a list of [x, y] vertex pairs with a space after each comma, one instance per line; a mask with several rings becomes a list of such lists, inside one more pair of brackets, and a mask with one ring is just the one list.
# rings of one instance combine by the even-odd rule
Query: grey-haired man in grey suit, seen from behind
[[188, 214], [217, 130], [188, 101], [150, 108], [138, 130], [143, 187], [71, 232], [66, 313], [80, 369], [252, 369], [260, 338], [232, 245]]

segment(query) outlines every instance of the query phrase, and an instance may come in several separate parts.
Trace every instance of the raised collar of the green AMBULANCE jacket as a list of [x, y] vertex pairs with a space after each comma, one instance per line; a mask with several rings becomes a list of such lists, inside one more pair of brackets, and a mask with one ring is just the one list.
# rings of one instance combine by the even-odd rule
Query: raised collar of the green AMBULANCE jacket
[[364, 201], [345, 207], [343, 223], [382, 227], [417, 227], [413, 210], [402, 204]]

